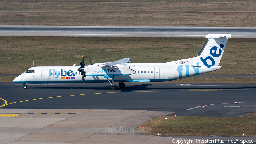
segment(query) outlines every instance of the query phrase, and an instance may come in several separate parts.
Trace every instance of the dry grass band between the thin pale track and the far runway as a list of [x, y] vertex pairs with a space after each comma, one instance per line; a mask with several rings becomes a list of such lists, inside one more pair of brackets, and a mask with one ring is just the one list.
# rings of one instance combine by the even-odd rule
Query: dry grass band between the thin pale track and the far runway
[[[242, 26], [254, 27], [256, 14], [241, 12], [0, 12], [1, 25], [77, 26]], [[17, 16], [22, 14], [24, 16]], [[189, 18], [189, 19], [187, 19]], [[199, 19], [200, 18], [200, 19]]]

